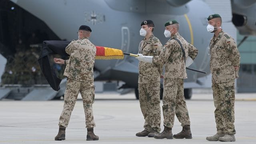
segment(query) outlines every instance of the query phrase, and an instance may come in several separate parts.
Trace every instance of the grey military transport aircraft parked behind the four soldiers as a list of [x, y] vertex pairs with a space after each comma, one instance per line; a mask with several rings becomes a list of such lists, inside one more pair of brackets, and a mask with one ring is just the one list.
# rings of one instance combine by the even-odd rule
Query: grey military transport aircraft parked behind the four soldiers
[[[206, 31], [207, 17], [214, 12], [202, 0], [11, 0], [30, 12], [60, 38], [77, 39], [77, 29], [85, 24], [92, 28], [90, 40], [96, 46], [118, 48], [123, 52], [138, 53], [142, 20], [155, 23], [154, 35], [164, 44], [164, 23], [176, 19], [180, 34], [198, 48], [198, 56], [190, 66], [210, 73]], [[256, 35], [256, 0], [231, 0], [232, 22], [240, 34]], [[138, 60], [125, 56], [124, 60], [96, 60], [95, 80], [121, 80], [122, 88], [135, 88], [138, 98]], [[191, 88], [200, 85], [198, 78], [206, 74], [187, 70], [185, 98], [191, 97]]]

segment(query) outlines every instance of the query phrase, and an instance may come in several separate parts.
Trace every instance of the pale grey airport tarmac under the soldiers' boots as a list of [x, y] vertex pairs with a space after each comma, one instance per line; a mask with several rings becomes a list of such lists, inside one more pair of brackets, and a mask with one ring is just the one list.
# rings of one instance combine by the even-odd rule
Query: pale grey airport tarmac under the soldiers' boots
[[[136, 137], [143, 130], [144, 119], [134, 93], [119, 95], [114, 92], [96, 93], [93, 105], [98, 141], [86, 141], [82, 100], [76, 102], [66, 140], [54, 141], [58, 133], [58, 119], [63, 101], [0, 101], [0, 143], [3, 144], [216, 144], [206, 136], [216, 133], [212, 94], [193, 94], [187, 100], [192, 139], [157, 140]], [[162, 106], [162, 101], [161, 101]], [[237, 144], [256, 143], [256, 94], [236, 94], [235, 127]], [[162, 115], [162, 114], [161, 114]], [[163, 117], [162, 117], [163, 122]], [[163, 123], [161, 123], [163, 129]], [[175, 118], [174, 134], [182, 127]]]

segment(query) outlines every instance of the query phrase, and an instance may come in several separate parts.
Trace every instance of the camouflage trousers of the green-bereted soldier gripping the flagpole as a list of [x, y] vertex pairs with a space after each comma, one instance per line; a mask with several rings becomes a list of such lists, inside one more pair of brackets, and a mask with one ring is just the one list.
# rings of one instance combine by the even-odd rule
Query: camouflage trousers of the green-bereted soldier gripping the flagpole
[[190, 125], [183, 84], [182, 78], [164, 78], [163, 115], [166, 127], [173, 127], [175, 114], [181, 126]]

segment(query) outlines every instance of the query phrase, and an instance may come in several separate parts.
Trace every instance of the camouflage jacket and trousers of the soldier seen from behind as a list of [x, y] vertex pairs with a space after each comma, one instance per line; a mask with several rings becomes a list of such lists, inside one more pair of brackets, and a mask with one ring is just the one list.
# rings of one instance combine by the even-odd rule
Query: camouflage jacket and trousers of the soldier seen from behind
[[87, 38], [82, 38], [68, 44], [66, 53], [70, 55], [70, 58], [67, 60], [63, 75], [68, 77], [68, 80], [59, 125], [68, 126], [78, 92], [80, 92], [83, 99], [86, 128], [93, 128], [95, 127], [92, 112], [92, 104], [94, 103], [93, 66], [96, 47]]

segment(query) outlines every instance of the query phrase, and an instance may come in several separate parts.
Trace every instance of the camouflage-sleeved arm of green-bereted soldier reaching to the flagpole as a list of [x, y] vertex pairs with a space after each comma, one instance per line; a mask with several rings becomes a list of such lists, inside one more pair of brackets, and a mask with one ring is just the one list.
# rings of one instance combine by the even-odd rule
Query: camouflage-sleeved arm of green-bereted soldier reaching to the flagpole
[[164, 64], [168, 58], [170, 57], [172, 44], [170, 42], [167, 42], [162, 51], [160, 52], [159, 56], [153, 57], [153, 63], [155, 64]]

